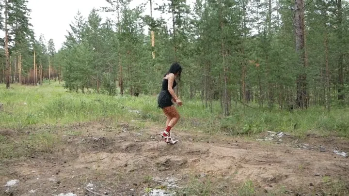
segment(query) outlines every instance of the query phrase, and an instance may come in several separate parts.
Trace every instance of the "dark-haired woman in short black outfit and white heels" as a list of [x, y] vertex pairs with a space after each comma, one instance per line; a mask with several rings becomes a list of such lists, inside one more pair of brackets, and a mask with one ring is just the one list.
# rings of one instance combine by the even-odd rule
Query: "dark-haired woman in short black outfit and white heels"
[[181, 65], [174, 62], [163, 77], [162, 88], [158, 97], [159, 107], [162, 108], [163, 113], [167, 117], [166, 129], [161, 134], [161, 140], [164, 139], [168, 144], [175, 144], [178, 141], [171, 138], [170, 130], [179, 120], [179, 114], [173, 106], [173, 102], [177, 103], [178, 106], [182, 106], [182, 101], [174, 93], [174, 87], [177, 85], [174, 78], [178, 77], [178, 80], [180, 80], [181, 72]]

